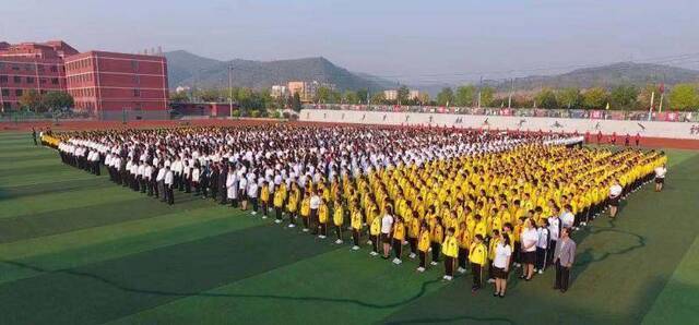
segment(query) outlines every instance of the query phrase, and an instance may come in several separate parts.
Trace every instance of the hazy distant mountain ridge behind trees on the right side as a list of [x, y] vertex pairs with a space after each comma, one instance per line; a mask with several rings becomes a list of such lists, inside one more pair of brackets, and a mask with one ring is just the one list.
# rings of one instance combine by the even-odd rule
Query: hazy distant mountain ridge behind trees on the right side
[[[621, 84], [642, 86], [649, 83], [666, 85], [686, 82], [699, 82], [699, 71], [663, 64], [619, 62], [596, 68], [584, 68], [557, 75], [532, 75], [518, 77], [514, 86], [518, 91], [534, 91], [542, 87], [605, 87]], [[490, 81], [498, 91], [508, 91], [510, 82]]]

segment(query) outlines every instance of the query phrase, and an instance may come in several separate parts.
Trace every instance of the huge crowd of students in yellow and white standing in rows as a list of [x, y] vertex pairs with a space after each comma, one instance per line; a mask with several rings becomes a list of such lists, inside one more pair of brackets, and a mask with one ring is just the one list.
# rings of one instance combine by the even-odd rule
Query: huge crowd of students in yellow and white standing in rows
[[561, 238], [617, 206], [666, 160], [653, 151], [573, 147], [577, 139], [555, 134], [452, 129], [263, 125], [52, 136], [64, 162], [93, 172], [104, 164], [116, 183], [169, 204], [174, 190], [194, 192], [319, 238], [333, 231], [336, 243], [351, 239], [355, 251], [367, 244], [394, 264], [407, 253], [417, 272], [443, 263], [446, 280], [471, 269], [473, 290], [487, 278], [497, 297], [505, 297], [511, 267], [523, 280], [544, 273], [559, 262]]

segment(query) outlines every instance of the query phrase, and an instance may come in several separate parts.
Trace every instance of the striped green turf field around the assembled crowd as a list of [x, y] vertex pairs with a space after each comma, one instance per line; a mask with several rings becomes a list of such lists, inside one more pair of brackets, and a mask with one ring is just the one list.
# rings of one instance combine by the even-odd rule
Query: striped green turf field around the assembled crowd
[[699, 152], [670, 152], [666, 191], [576, 233], [571, 289], [553, 272], [508, 297], [441, 281], [185, 194], [167, 206], [0, 133], [0, 324], [696, 322]]

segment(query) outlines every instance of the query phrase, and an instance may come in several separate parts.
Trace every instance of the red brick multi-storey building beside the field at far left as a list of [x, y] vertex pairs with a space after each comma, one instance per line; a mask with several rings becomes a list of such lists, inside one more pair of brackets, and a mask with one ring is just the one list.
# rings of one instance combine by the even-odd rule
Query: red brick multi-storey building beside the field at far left
[[68, 92], [75, 109], [103, 118], [120, 117], [125, 110], [164, 115], [167, 61], [162, 56], [79, 53], [62, 41], [0, 43], [0, 107], [17, 108], [19, 98], [31, 88]]

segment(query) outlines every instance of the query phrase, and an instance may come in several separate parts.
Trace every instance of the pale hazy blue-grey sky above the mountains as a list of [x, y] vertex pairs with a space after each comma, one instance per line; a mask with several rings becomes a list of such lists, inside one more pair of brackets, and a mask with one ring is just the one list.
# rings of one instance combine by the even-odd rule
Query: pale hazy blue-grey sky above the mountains
[[[699, 69], [698, 0], [2, 0], [1, 8], [0, 39], [10, 43], [64, 39], [79, 50], [126, 52], [159, 45], [225, 60], [323, 56], [413, 82], [630, 59]], [[679, 55], [692, 56], [671, 60]]]

